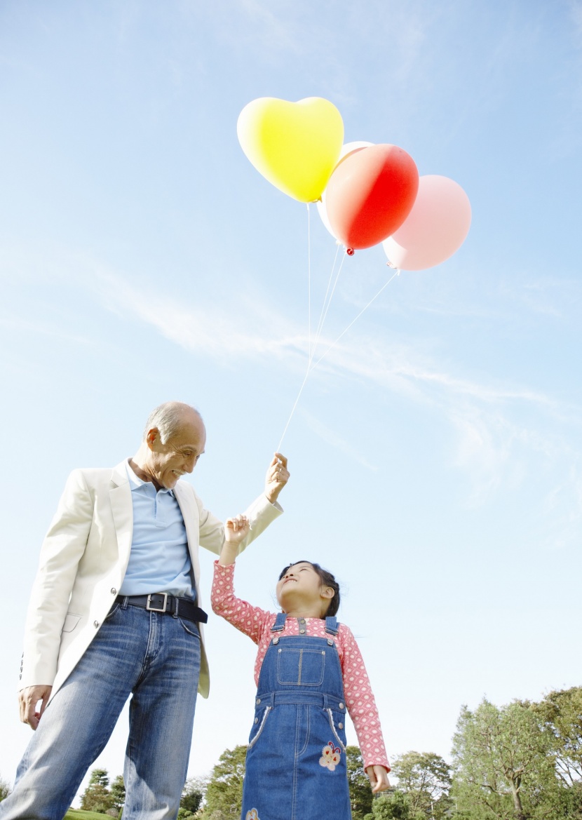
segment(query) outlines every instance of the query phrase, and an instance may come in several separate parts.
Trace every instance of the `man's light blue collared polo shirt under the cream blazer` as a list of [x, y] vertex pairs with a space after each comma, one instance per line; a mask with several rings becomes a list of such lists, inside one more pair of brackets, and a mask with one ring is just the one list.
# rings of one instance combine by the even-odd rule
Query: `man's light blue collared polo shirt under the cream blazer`
[[134, 535], [119, 594], [167, 592], [194, 598], [186, 527], [175, 494], [142, 481], [129, 462], [125, 467], [134, 507]]

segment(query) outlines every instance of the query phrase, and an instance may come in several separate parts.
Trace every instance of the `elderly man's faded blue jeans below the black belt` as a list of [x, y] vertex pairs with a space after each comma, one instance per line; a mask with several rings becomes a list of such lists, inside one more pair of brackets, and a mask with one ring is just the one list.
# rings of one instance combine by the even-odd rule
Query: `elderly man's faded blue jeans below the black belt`
[[1, 820], [62, 820], [125, 701], [124, 820], [174, 820], [186, 780], [200, 636], [190, 621], [115, 604], [40, 720]]

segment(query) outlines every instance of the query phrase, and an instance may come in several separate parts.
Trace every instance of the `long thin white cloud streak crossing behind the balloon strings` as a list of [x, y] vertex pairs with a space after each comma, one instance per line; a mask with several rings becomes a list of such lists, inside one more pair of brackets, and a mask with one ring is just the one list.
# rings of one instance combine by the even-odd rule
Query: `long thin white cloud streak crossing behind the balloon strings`
[[[92, 287], [113, 312], [134, 317], [155, 327], [190, 352], [203, 352], [216, 358], [286, 358], [301, 368], [307, 365], [308, 338], [276, 308], [237, 298], [237, 308], [193, 305], [152, 289], [134, 288], [111, 271], [98, 266], [91, 277]], [[328, 352], [329, 350], [329, 352]], [[555, 399], [527, 387], [482, 384], [442, 371], [438, 364], [413, 344], [394, 344], [391, 340], [356, 337], [334, 345], [321, 336], [314, 369], [351, 373], [410, 397], [421, 398], [420, 391], [441, 389], [464, 399], [495, 404], [521, 401], [546, 410], [558, 410]]]

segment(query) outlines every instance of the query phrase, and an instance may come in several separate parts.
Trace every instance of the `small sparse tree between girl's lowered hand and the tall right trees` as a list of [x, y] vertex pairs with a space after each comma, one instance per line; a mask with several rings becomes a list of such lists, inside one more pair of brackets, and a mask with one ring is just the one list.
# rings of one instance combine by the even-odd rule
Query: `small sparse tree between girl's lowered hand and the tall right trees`
[[451, 768], [439, 754], [407, 752], [395, 758], [392, 766], [398, 790], [410, 800], [412, 813], [441, 820], [451, 809]]

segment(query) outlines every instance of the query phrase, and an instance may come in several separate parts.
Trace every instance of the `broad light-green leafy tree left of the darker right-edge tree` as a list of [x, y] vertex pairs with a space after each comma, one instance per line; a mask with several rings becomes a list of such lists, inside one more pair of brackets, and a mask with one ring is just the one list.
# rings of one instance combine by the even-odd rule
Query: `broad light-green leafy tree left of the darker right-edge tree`
[[460, 812], [479, 820], [548, 817], [556, 777], [548, 737], [530, 704], [498, 708], [484, 699], [475, 712], [463, 707], [452, 754]]

